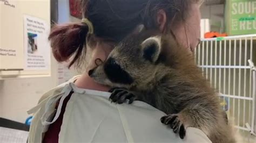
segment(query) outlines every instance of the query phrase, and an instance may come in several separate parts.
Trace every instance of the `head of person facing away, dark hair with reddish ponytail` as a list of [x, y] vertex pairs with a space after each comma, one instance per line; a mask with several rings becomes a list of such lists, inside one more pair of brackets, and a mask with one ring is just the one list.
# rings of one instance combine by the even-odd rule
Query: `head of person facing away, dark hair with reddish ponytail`
[[[93, 34], [84, 23], [57, 25], [49, 39], [59, 62], [71, 59], [70, 66], [85, 61], [92, 50], [90, 65], [105, 60], [113, 45], [143, 24], [146, 29], [176, 36], [178, 42], [193, 49], [200, 36], [199, 5], [202, 0], [84, 0], [83, 17], [93, 25]], [[86, 50], [87, 49], [87, 50]]]

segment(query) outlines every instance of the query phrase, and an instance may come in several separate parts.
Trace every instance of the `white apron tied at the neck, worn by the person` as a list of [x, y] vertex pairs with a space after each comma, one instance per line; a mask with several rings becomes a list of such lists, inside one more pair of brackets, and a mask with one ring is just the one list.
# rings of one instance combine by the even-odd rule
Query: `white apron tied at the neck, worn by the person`
[[44, 94], [38, 105], [28, 111], [34, 113], [29, 142], [42, 142], [71, 91], [59, 142], [211, 142], [201, 130], [192, 127], [187, 128], [182, 140], [170, 127], [161, 124], [160, 118], [165, 113], [140, 101], [132, 105], [111, 103], [109, 92], [77, 88], [73, 84], [76, 78]]

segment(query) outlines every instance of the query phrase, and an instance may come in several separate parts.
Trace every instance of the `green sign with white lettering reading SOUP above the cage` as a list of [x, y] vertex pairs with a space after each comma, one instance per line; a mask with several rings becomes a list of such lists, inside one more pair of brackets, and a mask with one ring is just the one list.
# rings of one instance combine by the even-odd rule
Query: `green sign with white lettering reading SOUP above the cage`
[[228, 35], [256, 34], [256, 0], [226, 0], [225, 24]]

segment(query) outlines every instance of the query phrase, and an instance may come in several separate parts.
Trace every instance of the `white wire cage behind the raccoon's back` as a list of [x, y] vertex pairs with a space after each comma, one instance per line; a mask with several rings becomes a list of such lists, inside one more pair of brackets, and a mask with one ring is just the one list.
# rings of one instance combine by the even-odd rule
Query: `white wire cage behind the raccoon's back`
[[254, 134], [256, 34], [203, 39], [194, 54], [235, 127]]

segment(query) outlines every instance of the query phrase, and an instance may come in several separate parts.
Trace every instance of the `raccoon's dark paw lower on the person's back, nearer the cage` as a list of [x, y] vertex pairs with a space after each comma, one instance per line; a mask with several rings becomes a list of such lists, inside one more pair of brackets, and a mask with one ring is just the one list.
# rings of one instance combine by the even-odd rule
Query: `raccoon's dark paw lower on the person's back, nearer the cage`
[[173, 132], [179, 133], [179, 137], [181, 139], [184, 139], [186, 135], [186, 129], [183, 121], [179, 119], [179, 115], [170, 114], [170, 115], [161, 117], [161, 123], [165, 125], [170, 125], [170, 127], [173, 129]]

